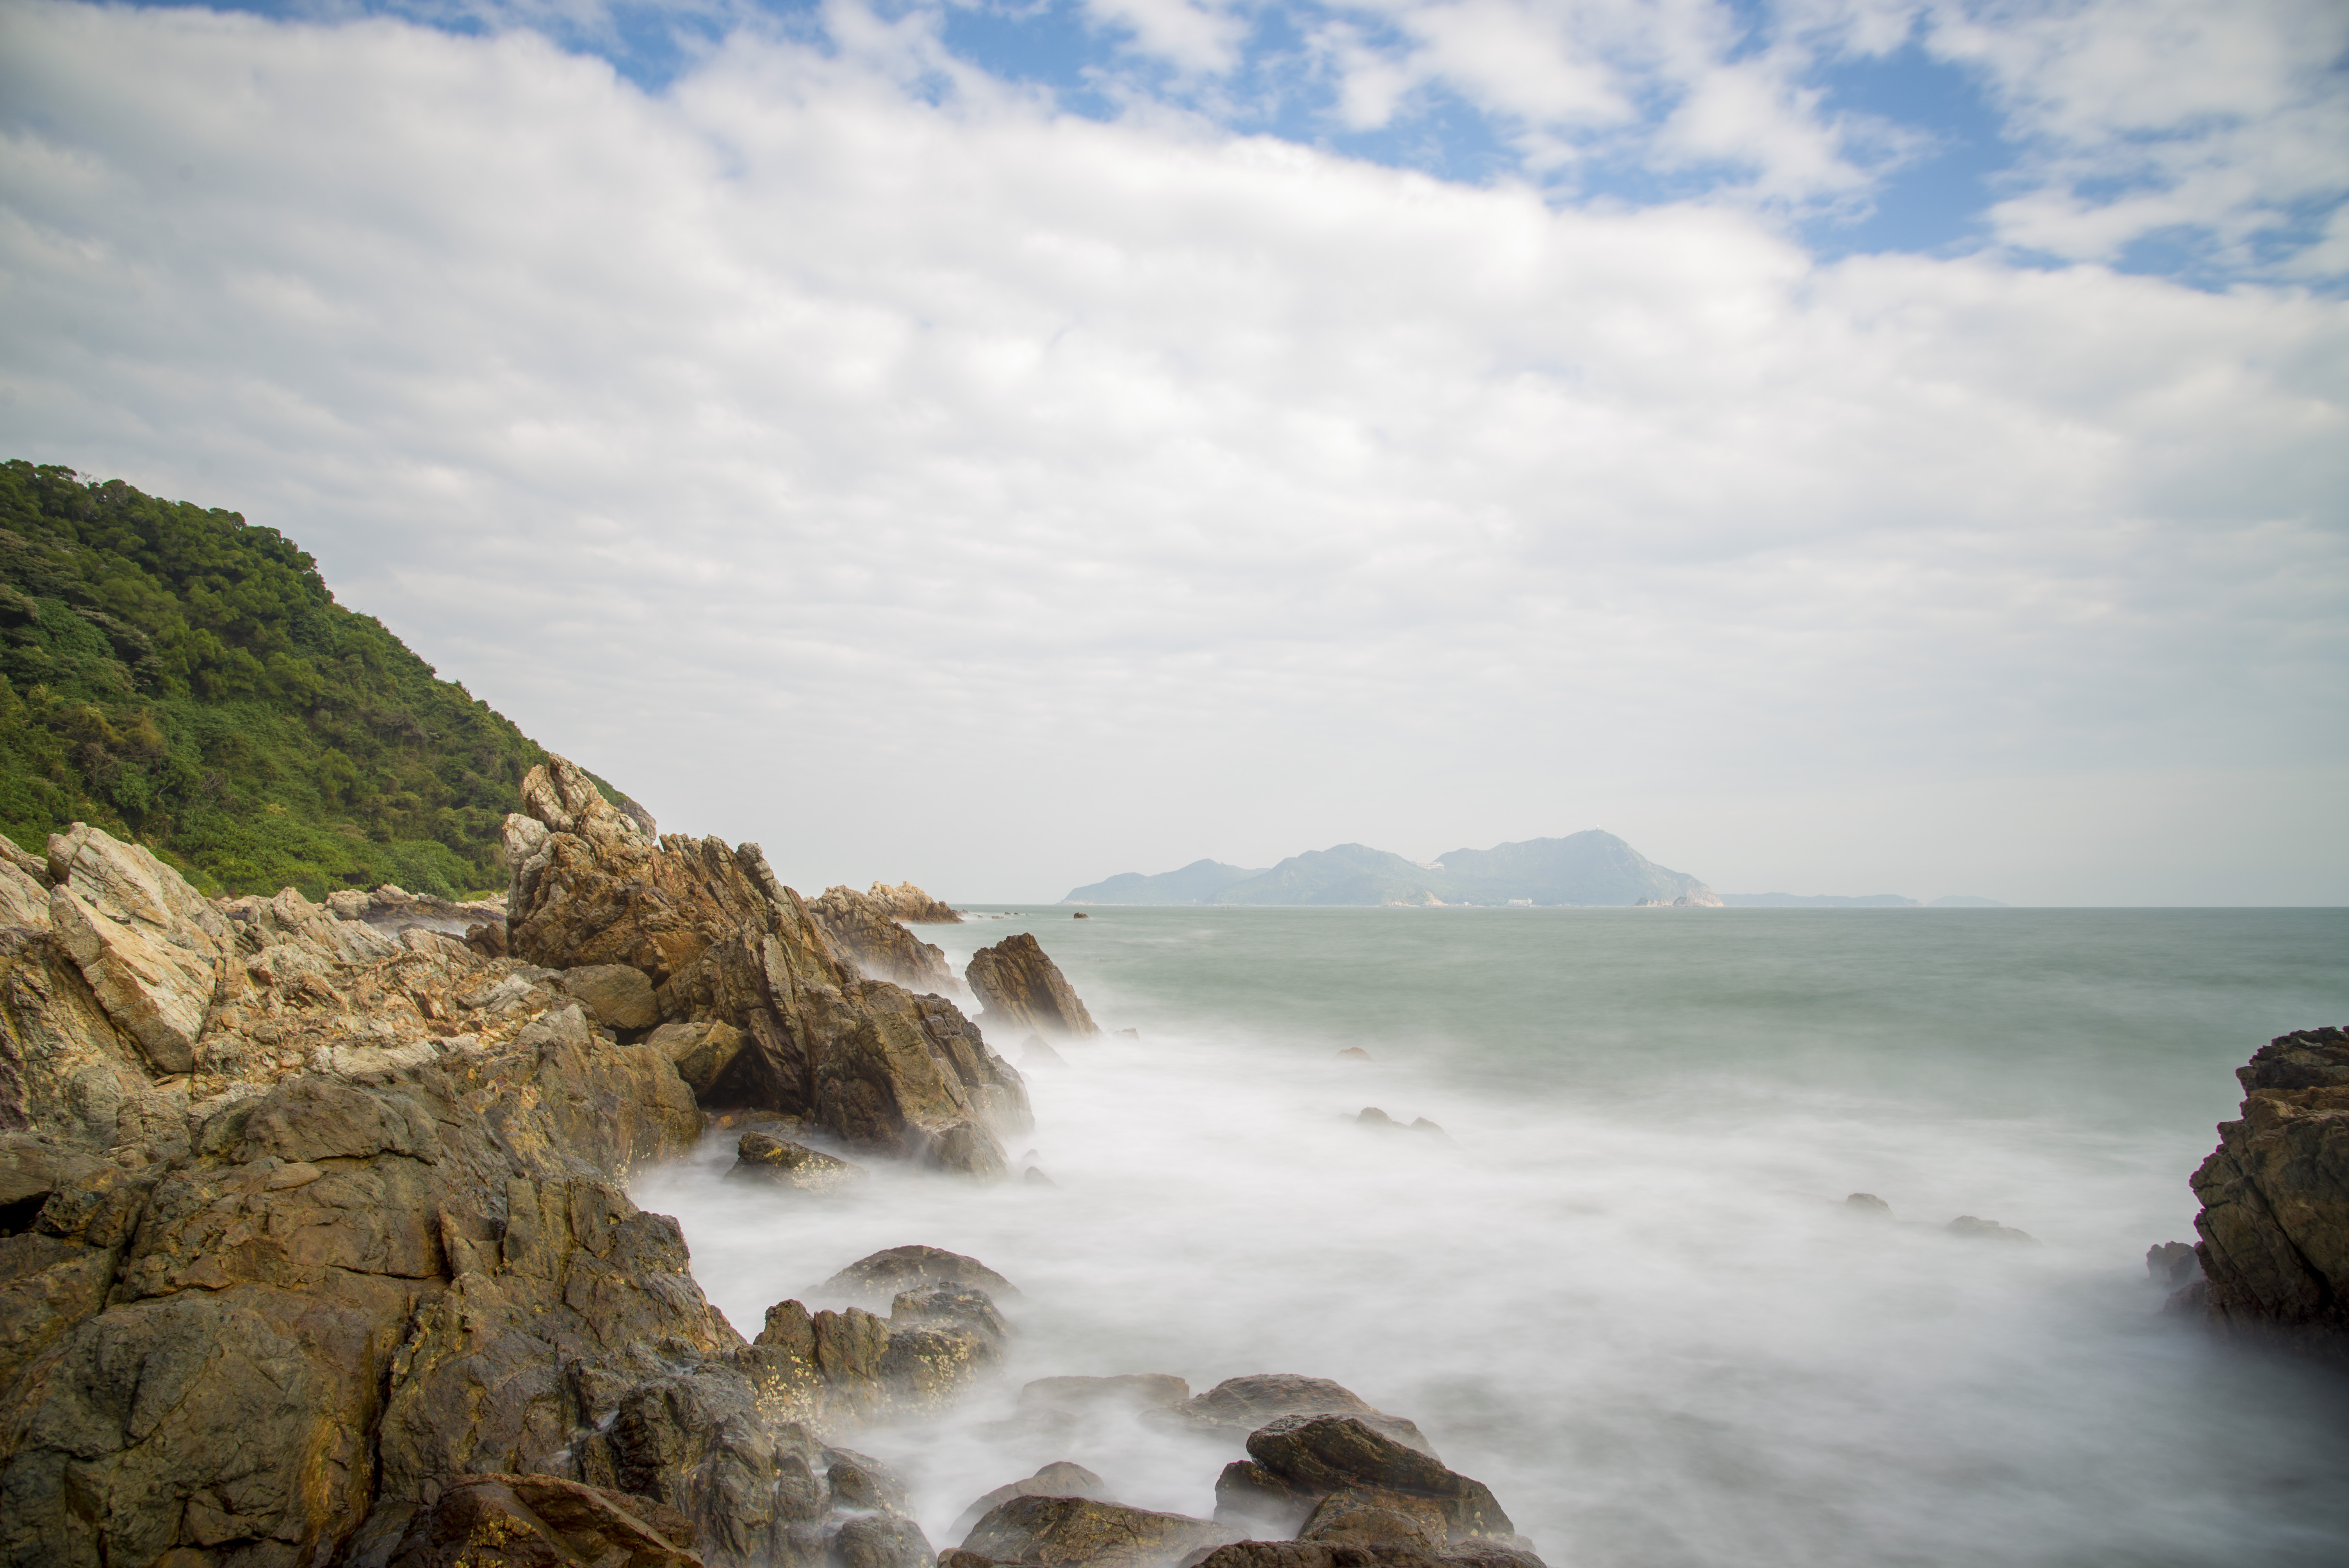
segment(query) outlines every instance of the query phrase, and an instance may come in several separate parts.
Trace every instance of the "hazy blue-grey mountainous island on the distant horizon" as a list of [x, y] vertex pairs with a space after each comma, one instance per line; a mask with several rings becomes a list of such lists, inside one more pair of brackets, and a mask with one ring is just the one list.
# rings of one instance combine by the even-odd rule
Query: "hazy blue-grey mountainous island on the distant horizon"
[[1694, 876], [1647, 859], [1614, 833], [1527, 838], [1452, 850], [1419, 864], [1369, 845], [1292, 854], [1271, 871], [1200, 859], [1182, 871], [1120, 876], [1071, 887], [1062, 904], [1703, 904], [1719, 897]]

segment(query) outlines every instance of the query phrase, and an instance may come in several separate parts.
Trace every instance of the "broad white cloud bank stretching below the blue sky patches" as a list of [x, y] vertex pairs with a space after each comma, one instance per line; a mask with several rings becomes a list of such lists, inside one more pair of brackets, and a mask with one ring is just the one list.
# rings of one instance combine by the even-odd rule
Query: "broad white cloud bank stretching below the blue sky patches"
[[[1865, 890], [2095, 897], [2189, 824], [2048, 878], [2079, 779], [2342, 765], [2340, 303], [1818, 265], [1055, 117], [923, 38], [735, 35], [646, 96], [531, 35], [7, 7], [5, 446], [282, 526], [806, 883], [1670, 861], [1656, 800], [1978, 779]], [[2349, 890], [2276, 796], [2300, 861], [2227, 887]]]

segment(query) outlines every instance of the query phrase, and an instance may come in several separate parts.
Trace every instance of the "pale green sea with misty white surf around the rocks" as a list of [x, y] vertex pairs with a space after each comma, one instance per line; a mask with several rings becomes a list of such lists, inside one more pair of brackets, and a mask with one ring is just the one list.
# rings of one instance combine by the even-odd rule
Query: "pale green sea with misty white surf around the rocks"
[[1034, 930], [1139, 1030], [1027, 1070], [1055, 1185], [787, 1195], [721, 1181], [731, 1136], [637, 1183], [745, 1333], [907, 1242], [1019, 1286], [998, 1387], [857, 1444], [933, 1545], [1048, 1460], [1210, 1514], [1240, 1458], [1022, 1425], [1029, 1378], [1294, 1371], [1416, 1420], [1553, 1568], [2349, 1561], [2349, 1380], [2145, 1272], [2234, 1068], [2349, 1021], [2349, 911], [1092, 915], [921, 927], [956, 969]]

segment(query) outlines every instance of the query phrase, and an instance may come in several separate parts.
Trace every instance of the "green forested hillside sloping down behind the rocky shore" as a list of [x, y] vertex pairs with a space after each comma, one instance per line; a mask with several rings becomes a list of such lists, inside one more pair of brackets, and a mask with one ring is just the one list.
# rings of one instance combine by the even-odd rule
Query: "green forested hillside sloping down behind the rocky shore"
[[0, 467], [0, 831], [139, 838], [207, 892], [503, 887], [545, 751], [235, 512]]

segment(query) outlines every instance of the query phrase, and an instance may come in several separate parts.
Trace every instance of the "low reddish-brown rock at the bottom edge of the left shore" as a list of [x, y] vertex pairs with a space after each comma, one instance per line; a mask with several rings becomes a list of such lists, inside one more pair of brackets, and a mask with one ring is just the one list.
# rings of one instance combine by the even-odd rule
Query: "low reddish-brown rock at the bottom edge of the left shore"
[[453, 1476], [409, 1516], [388, 1568], [702, 1568], [693, 1521], [648, 1498], [559, 1476]]

